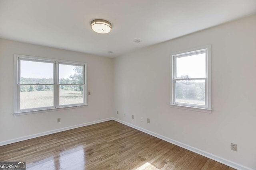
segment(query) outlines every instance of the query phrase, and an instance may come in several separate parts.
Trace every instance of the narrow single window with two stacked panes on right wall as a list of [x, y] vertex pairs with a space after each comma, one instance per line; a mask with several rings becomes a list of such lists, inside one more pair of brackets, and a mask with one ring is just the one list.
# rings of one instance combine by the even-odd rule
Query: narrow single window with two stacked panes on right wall
[[197, 111], [211, 110], [210, 45], [176, 53], [170, 61], [170, 105]]

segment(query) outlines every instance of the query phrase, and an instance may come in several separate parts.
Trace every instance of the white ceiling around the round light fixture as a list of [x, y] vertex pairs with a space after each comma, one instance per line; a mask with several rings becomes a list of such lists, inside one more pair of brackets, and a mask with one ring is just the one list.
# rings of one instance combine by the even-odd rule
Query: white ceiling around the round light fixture
[[0, 37], [116, 57], [255, 12], [256, 0], [0, 0]]

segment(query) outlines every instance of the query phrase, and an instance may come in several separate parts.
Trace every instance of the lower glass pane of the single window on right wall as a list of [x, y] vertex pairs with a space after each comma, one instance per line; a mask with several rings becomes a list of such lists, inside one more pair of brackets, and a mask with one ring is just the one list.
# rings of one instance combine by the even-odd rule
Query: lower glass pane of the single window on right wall
[[176, 80], [175, 102], [205, 105], [205, 80]]

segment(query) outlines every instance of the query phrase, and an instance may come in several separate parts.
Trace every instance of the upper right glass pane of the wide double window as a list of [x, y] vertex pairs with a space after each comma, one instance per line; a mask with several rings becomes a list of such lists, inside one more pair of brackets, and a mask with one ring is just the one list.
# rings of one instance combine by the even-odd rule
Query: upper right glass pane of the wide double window
[[84, 84], [83, 66], [59, 64], [59, 84]]

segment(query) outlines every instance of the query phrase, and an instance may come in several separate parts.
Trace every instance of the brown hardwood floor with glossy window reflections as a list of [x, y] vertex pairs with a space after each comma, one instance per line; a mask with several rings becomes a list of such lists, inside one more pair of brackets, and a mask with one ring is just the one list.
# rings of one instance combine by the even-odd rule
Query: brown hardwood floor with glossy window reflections
[[116, 121], [0, 147], [0, 161], [35, 170], [234, 170]]

